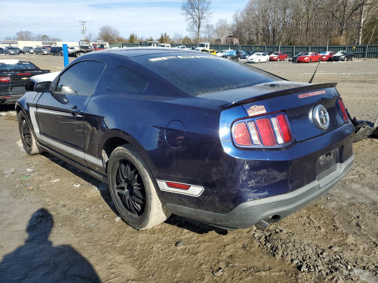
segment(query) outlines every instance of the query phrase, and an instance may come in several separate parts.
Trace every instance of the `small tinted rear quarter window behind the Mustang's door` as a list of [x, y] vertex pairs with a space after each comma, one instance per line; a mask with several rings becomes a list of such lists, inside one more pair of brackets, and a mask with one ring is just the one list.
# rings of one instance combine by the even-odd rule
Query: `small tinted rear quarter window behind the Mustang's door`
[[121, 66], [114, 71], [108, 83], [109, 91], [143, 92], [146, 87], [146, 79]]

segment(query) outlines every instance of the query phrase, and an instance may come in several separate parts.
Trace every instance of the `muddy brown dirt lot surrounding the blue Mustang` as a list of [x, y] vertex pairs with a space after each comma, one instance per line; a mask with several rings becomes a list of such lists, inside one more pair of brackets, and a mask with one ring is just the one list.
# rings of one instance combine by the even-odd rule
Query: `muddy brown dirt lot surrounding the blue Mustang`
[[[63, 66], [57, 56], [17, 58], [51, 71]], [[300, 82], [316, 68], [256, 66]], [[320, 82], [338, 82], [350, 113], [374, 122], [378, 60], [321, 63], [314, 79]], [[49, 154], [27, 155], [12, 107], [2, 111], [0, 278], [6, 282], [378, 282], [377, 139], [354, 144], [352, 171], [268, 232], [227, 232], [174, 215], [136, 231], [119, 220], [106, 190], [83, 195], [107, 185]]]

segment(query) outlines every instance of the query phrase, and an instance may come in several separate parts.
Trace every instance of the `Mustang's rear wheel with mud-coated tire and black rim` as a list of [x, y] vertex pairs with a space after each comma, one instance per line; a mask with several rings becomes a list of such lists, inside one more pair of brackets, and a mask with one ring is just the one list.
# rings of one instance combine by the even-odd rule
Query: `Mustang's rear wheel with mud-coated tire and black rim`
[[117, 211], [131, 227], [149, 229], [170, 216], [149, 166], [130, 144], [110, 155], [108, 182]]

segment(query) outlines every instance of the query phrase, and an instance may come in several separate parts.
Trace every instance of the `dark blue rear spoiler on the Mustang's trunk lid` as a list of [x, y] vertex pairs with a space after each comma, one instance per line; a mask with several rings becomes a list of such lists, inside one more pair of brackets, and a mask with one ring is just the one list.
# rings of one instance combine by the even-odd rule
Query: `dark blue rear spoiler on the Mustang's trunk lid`
[[258, 101], [258, 100], [264, 100], [264, 99], [279, 97], [279, 96], [282, 96], [282, 95], [288, 95], [288, 94], [292, 94], [292, 93], [296, 93], [296, 92], [312, 91], [313, 89], [319, 89], [319, 88], [334, 88], [336, 85], [337, 85], [337, 83], [318, 83], [318, 84], [314, 84], [314, 85], [299, 86], [297, 88], [282, 89], [282, 90], [279, 90], [279, 91], [268, 92], [268, 93], [257, 95], [257, 96], [254, 96], [254, 97], [236, 100], [234, 102], [228, 102], [228, 103], [220, 105], [219, 107], [220, 108], [228, 108], [228, 107], [231, 107], [231, 106], [236, 106], [236, 105], [255, 102], [255, 101]]

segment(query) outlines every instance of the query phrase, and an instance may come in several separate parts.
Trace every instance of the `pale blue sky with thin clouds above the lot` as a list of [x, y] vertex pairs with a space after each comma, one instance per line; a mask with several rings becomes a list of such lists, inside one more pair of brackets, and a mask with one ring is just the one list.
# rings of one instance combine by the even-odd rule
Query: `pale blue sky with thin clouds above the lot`
[[[243, 9], [247, 2], [242, 0], [235, 5], [228, 0], [213, 0], [209, 22], [215, 24], [218, 18], [231, 22], [235, 10]], [[28, 30], [60, 37], [63, 41], [78, 41], [82, 39], [79, 21], [86, 21], [87, 33], [96, 35], [103, 25], [117, 28], [125, 38], [132, 32], [154, 38], [161, 32], [167, 32], [170, 37], [175, 32], [187, 35], [181, 3], [181, 0], [17, 0], [14, 5], [12, 1], [0, 0], [3, 23], [0, 39]]]

